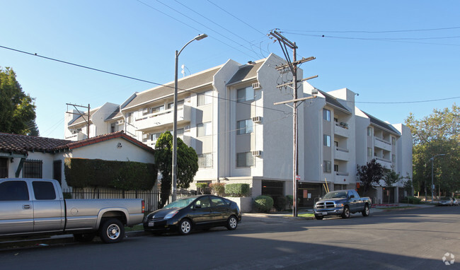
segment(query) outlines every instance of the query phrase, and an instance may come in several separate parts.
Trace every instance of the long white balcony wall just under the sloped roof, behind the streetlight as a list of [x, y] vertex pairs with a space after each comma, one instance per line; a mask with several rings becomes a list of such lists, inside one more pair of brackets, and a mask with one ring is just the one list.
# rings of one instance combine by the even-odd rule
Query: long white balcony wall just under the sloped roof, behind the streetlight
[[[178, 124], [190, 122], [191, 111], [192, 107], [188, 105], [182, 105], [178, 107]], [[141, 118], [137, 118], [132, 124], [137, 131], [145, 131], [147, 129], [153, 129], [155, 127], [171, 125], [173, 124], [173, 118], [173, 109], [168, 109], [162, 112], [144, 115]]]

